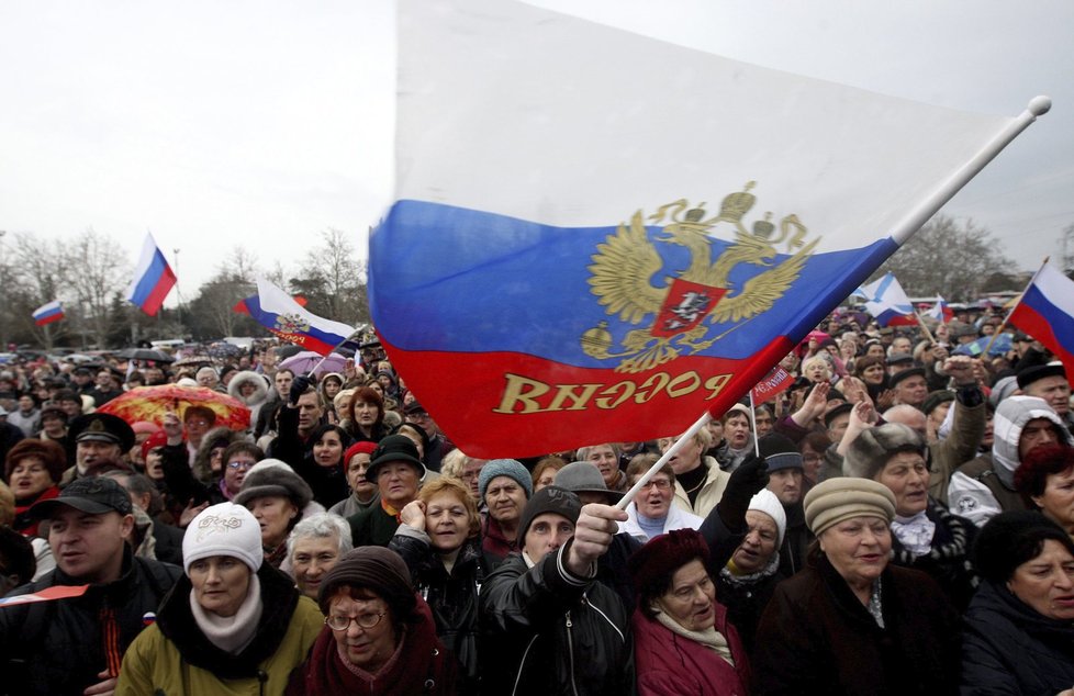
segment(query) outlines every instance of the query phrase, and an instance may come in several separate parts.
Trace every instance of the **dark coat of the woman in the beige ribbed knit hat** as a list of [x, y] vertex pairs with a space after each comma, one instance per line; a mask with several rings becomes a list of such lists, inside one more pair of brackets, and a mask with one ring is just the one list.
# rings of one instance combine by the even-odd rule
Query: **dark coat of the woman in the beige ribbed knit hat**
[[775, 588], [757, 631], [754, 694], [953, 694], [959, 617], [925, 573], [888, 564], [884, 628], [824, 555]]

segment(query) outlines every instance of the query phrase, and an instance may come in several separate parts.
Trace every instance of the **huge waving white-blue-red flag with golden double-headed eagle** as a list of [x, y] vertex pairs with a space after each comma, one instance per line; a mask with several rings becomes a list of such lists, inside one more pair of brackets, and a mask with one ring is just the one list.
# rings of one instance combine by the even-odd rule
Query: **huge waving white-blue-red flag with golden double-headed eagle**
[[510, 0], [401, 0], [392, 363], [468, 454], [678, 434], [1023, 130]]

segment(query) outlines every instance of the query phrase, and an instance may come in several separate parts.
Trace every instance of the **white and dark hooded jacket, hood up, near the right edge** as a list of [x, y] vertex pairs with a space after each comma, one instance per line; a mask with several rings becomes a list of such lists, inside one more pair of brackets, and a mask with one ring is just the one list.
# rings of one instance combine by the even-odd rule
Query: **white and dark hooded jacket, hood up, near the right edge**
[[1066, 444], [1074, 446], [1074, 437], [1044, 400], [1008, 396], [996, 409], [992, 452], [959, 467], [951, 476], [948, 503], [952, 513], [980, 527], [1002, 512], [1026, 509], [1025, 501], [1015, 491], [1015, 470], [1021, 464], [1018, 454], [1021, 431], [1036, 418], [1051, 420]]

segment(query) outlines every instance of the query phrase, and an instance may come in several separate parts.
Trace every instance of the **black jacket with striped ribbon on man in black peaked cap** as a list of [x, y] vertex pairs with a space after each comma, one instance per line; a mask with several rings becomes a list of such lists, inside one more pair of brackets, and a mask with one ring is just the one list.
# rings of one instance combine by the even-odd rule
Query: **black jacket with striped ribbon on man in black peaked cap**
[[[123, 574], [113, 583], [90, 585], [80, 597], [0, 608], [0, 692], [81, 694], [105, 669], [119, 674], [123, 653], [181, 574], [175, 565], [134, 558], [127, 548]], [[57, 568], [7, 596], [81, 584]], [[107, 641], [102, 617], [109, 614], [118, 632]]]

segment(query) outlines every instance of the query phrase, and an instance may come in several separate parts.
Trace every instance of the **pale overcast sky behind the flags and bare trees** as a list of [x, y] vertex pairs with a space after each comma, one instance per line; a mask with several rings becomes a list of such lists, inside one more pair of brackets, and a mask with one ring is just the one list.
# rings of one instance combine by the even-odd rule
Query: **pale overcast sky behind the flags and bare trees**
[[[944, 213], [1019, 268], [1074, 223], [1074, 2], [534, 0], [810, 77], [1032, 125]], [[0, 4], [0, 229], [150, 229], [189, 299], [244, 245], [297, 262], [317, 233], [392, 200], [394, 4], [387, 0]], [[3, 238], [4, 248], [10, 236]], [[1071, 249], [1074, 252], [1074, 249]], [[175, 302], [175, 295], [169, 304]]]

